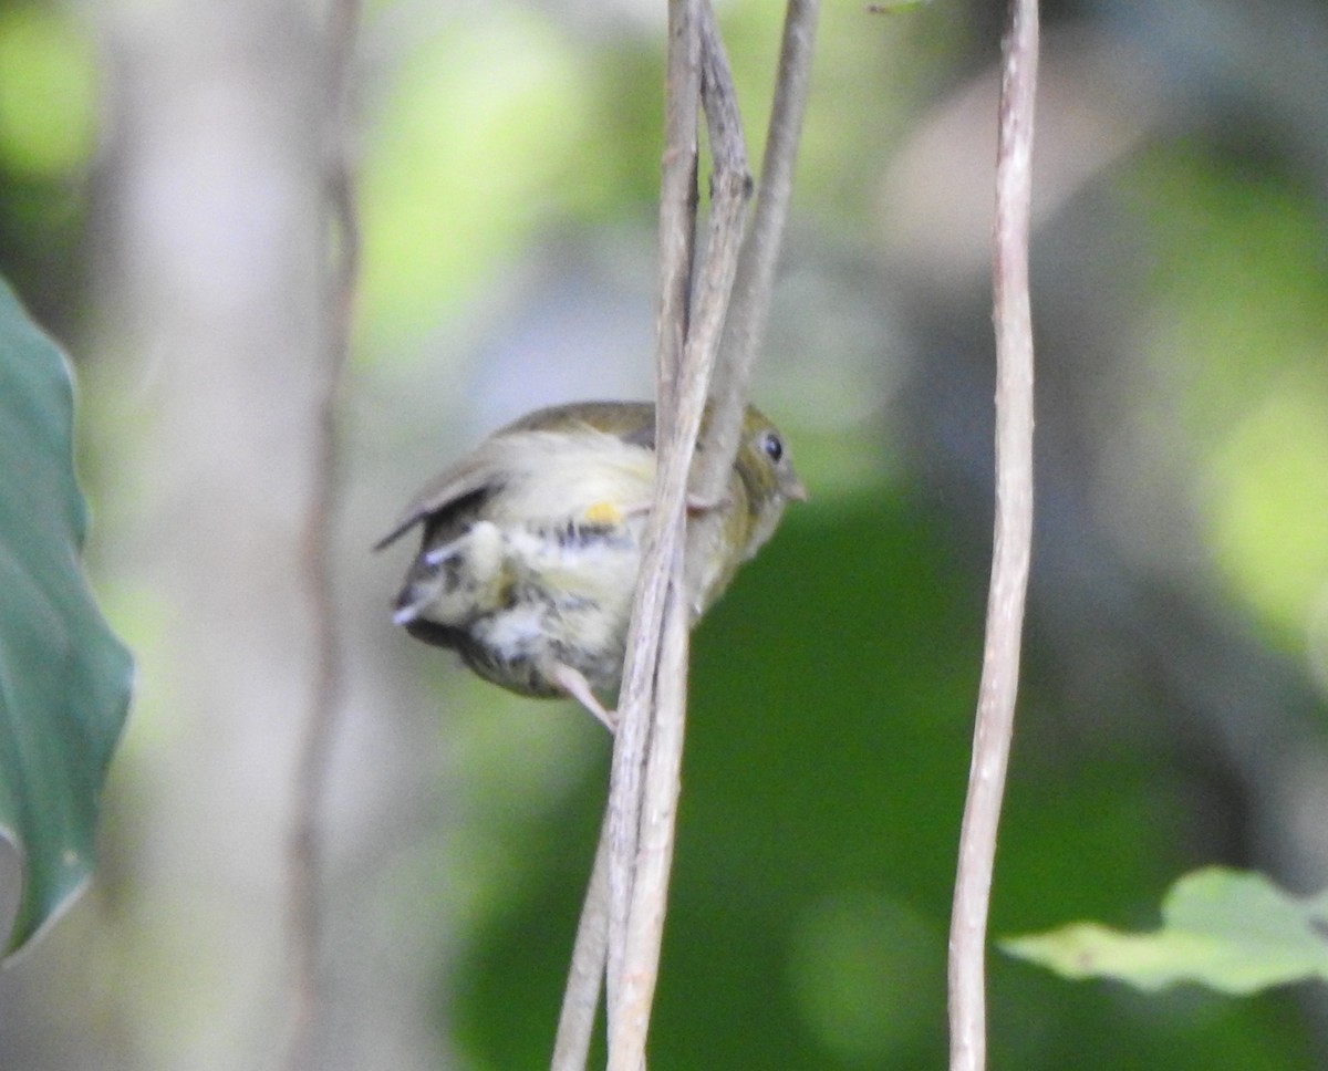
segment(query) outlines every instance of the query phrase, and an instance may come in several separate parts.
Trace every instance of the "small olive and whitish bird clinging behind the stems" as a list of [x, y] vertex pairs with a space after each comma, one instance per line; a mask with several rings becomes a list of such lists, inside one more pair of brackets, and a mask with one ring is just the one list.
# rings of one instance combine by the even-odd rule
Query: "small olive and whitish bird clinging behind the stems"
[[[531, 413], [442, 472], [377, 543], [422, 526], [392, 620], [495, 685], [575, 698], [612, 731], [600, 697], [622, 685], [653, 494], [652, 403]], [[780, 433], [748, 407], [724, 498], [688, 506], [718, 519], [687, 563], [692, 624], [806, 494]]]

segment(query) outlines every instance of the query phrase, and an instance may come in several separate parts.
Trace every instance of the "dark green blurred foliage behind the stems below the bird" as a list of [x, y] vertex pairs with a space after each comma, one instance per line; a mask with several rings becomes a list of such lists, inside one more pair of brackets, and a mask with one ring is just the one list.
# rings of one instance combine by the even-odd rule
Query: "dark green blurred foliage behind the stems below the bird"
[[[653, 1066], [944, 1064], [983, 607], [943, 527], [908, 500], [795, 511], [699, 630]], [[1029, 775], [1040, 721], [1021, 729], [993, 933], [1147, 910], [1185, 859], [1154, 820], [1165, 770], [1122, 752]], [[600, 806], [592, 778], [539, 823], [519, 902], [475, 934], [452, 1018], [478, 1066], [547, 1059]], [[1312, 1063], [1278, 997], [1145, 1001], [996, 953], [991, 991], [993, 1067]]]

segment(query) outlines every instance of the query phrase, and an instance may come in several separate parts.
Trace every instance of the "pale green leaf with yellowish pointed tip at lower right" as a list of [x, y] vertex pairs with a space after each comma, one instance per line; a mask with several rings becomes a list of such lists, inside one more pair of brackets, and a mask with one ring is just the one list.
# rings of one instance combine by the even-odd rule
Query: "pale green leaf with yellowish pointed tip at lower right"
[[1248, 994], [1328, 981], [1328, 894], [1299, 898], [1264, 875], [1211, 867], [1177, 880], [1151, 933], [1076, 922], [1000, 946], [1066, 978], [1117, 978], [1143, 990], [1197, 982]]

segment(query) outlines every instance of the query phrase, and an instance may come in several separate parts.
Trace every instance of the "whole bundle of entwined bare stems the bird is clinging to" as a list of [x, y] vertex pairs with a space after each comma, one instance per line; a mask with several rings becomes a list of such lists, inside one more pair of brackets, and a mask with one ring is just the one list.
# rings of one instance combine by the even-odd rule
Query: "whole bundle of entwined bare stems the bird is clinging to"
[[[762, 178], [765, 204], [757, 211], [757, 226], [762, 235], [754, 238], [748, 248], [742, 248], [742, 211], [750, 196], [752, 183], [722, 41], [709, 3], [692, 13], [685, 11], [684, 4], [671, 7], [667, 147], [660, 208], [660, 502], [675, 500], [681, 487], [679, 474], [688, 471], [687, 464], [675, 463], [669, 466], [671, 475], [665, 475], [664, 457], [683, 450], [688, 457], [692, 455], [695, 430], [689, 429], [695, 429], [699, 422], [709, 378], [706, 366], [716, 360], [713, 354], [718, 348], [722, 325], [726, 316], [734, 316], [726, 307], [726, 299], [737, 285], [734, 276], [745, 271], [740, 263], [745, 257], [749, 261], [745, 297], [748, 308], [740, 319], [746, 326], [738, 332], [742, 341], [737, 345], [741, 350], [737, 360], [742, 362], [744, 370], [725, 378], [730, 385], [725, 388], [726, 397], [733, 390], [738, 392], [738, 401], [730, 407], [730, 445], [709, 451], [705, 471], [697, 463], [699, 471], [692, 480], [693, 488], [713, 486], [713, 498], [724, 491], [737, 449], [737, 427], [745, 406], [746, 384], [769, 308], [769, 287], [788, 215], [817, 9], [817, 0], [790, 0], [788, 7], [776, 104], [770, 118], [772, 133], [766, 147], [768, 175]], [[687, 19], [692, 19], [699, 31], [687, 31]], [[691, 38], [689, 32], [693, 35]], [[699, 84], [697, 64], [701, 68]], [[709, 123], [716, 174], [712, 183], [708, 259], [697, 287], [693, 317], [688, 312], [687, 297], [695, 256], [699, 90]], [[697, 325], [695, 333], [689, 329], [692, 322]], [[732, 353], [725, 357], [733, 360]], [[712, 441], [713, 431], [712, 419]], [[554, 1071], [580, 1071], [586, 1066], [599, 995], [595, 964], [602, 965], [606, 956], [600, 928], [606, 925], [603, 900], [610, 896], [610, 885], [614, 889], [614, 906], [608, 912], [612, 921], [607, 924], [614, 934], [607, 953], [610, 1034], [611, 1038], [620, 1038], [616, 1048], [611, 1042], [610, 1064], [615, 1068], [644, 1066], [645, 1025], [663, 933], [664, 889], [672, 855], [673, 810], [681, 760], [688, 613], [680, 597], [681, 580], [677, 571], [683, 568], [681, 561], [672, 568], [665, 567], [668, 579], [659, 572], [660, 561], [669, 553], [667, 544], [681, 539], [681, 515], [675, 516], [669, 508], [656, 506], [653, 518], [660, 524], [659, 532], [651, 536], [657, 541], [649, 544], [651, 553], [656, 557], [648, 555], [643, 568], [643, 591], [637, 593], [637, 613], [628, 637], [628, 650], [632, 654], [628, 657], [619, 707], [622, 723], [636, 729], [619, 729], [614, 795], [576, 932], [572, 969], [559, 1018]], [[653, 661], [652, 668], [655, 658], [657, 661]], [[639, 717], [629, 711], [641, 710], [643, 703], [648, 706], [652, 697], [657, 717], [643, 726]], [[629, 738], [629, 733], [640, 735]], [[644, 784], [640, 782], [643, 763]], [[640, 794], [651, 800], [644, 811]], [[610, 851], [611, 844], [614, 851]], [[614, 871], [612, 881], [606, 875], [610, 869]], [[631, 1025], [624, 1025], [624, 1019], [631, 1019]]]

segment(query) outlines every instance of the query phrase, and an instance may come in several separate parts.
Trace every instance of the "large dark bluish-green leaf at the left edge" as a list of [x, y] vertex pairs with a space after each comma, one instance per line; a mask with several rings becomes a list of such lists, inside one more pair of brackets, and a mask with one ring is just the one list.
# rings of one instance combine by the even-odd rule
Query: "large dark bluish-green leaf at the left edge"
[[17, 952], [86, 884], [133, 664], [80, 569], [64, 354], [0, 281], [0, 835], [23, 859]]

